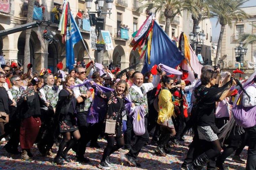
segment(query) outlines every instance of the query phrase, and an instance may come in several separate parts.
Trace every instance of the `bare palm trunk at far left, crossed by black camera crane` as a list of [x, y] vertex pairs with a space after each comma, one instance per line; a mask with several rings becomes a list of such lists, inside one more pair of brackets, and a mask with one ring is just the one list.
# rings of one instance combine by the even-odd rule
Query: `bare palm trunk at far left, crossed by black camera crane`
[[[33, 21], [33, 11], [34, 11], [34, 0], [28, 1], [28, 13], [27, 13], [27, 23]], [[26, 30], [25, 37], [25, 49], [24, 49], [24, 72], [27, 72], [27, 65], [30, 63], [30, 47], [29, 47], [29, 39], [31, 35], [31, 30]]]

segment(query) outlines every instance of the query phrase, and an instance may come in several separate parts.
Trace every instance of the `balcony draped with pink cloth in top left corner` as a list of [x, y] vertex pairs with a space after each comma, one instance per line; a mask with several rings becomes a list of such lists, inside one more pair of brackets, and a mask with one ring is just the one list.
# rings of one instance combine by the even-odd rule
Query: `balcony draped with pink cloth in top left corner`
[[14, 15], [14, 0], [0, 1], [0, 15], [6, 17]]

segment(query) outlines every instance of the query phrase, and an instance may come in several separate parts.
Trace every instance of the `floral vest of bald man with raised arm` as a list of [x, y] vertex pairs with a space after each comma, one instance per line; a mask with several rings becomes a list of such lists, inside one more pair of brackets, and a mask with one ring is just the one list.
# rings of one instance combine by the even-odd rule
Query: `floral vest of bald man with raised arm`
[[129, 88], [128, 91], [131, 95], [132, 103], [134, 103], [135, 106], [146, 105], [146, 108], [145, 108], [145, 115], [146, 115], [149, 112], [148, 111], [148, 98], [147, 98], [147, 92], [145, 90], [145, 87], [142, 86], [142, 89], [143, 89], [143, 97], [141, 97], [140, 94], [132, 87]]

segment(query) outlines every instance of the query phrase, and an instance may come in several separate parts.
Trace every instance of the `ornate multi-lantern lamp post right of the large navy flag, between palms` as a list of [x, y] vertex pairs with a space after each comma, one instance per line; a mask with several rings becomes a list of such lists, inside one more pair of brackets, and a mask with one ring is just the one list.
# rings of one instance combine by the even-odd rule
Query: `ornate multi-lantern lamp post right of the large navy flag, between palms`
[[[191, 47], [195, 50], [196, 55], [197, 55], [197, 45], [198, 44], [203, 44], [204, 40], [205, 40], [205, 34], [203, 34], [200, 31], [200, 26], [196, 26], [195, 27], [195, 33], [190, 33], [189, 34], [189, 39], [191, 42]], [[198, 41], [199, 40], [199, 41]]]

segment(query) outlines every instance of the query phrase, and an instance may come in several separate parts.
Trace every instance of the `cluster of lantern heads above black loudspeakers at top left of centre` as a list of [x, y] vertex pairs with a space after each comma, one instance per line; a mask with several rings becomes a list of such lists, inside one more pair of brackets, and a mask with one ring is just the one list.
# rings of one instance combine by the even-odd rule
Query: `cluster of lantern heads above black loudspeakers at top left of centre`
[[[107, 9], [108, 9], [108, 12], [102, 12], [102, 7], [104, 6], [104, 2], [106, 1], [107, 3]], [[109, 17], [110, 17], [110, 14], [111, 14], [111, 9], [112, 9], [112, 4], [114, 2], [114, 0], [96, 0], [94, 3], [95, 3], [95, 10], [96, 12], [91, 12], [90, 9], [92, 8], [92, 2], [93, 0], [85, 0], [85, 3], [86, 3], [86, 8], [88, 10], [88, 13], [97, 13], [98, 16], [100, 16], [101, 14], [109, 14]]]

